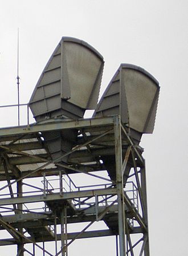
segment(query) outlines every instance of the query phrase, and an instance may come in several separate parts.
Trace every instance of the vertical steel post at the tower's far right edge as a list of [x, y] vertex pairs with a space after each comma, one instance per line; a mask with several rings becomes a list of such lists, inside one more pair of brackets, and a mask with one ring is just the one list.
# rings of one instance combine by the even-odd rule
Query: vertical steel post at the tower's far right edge
[[[147, 207], [147, 194], [146, 194], [146, 170], [145, 170], [145, 162], [144, 166], [140, 169], [141, 174], [141, 190], [142, 190], [142, 196], [145, 204], [145, 211], [143, 213], [143, 217], [145, 220], [145, 224], [148, 227], [148, 207]], [[144, 247], [144, 255], [149, 256], [149, 235], [144, 234], [144, 241], [145, 241], [145, 247]]]

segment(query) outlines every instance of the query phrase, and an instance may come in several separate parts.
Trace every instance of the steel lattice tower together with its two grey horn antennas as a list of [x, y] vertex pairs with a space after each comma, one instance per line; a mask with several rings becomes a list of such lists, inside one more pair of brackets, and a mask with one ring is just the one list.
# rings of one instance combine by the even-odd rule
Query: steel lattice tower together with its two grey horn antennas
[[28, 103], [36, 123], [0, 129], [0, 245], [17, 256], [68, 256], [76, 239], [108, 236], [116, 256], [149, 256], [140, 140], [153, 132], [160, 87], [121, 64], [97, 103], [103, 67], [92, 46], [62, 38]]

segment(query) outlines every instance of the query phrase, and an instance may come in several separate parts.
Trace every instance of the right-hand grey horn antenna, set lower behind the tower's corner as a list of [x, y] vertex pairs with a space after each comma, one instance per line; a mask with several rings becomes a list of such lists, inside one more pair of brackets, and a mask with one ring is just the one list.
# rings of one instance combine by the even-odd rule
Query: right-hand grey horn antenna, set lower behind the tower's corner
[[143, 68], [121, 64], [105, 90], [94, 116], [121, 115], [139, 133], [154, 129], [160, 87]]

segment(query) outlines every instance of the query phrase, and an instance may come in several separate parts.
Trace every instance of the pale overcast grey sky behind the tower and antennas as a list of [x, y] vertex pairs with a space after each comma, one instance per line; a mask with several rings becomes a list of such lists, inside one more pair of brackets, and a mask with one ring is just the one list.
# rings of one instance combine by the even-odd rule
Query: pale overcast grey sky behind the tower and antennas
[[[160, 82], [154, 134], [143, 136], [141, 143], [152, 256], [188, 251], [187, 13], [187, 0], [0, 0], [0, 105], [17, 103], [18, 27], [21, 103], [30, 99], [62, 36], [83, 39], [104, 56], [102, 90], [120, 63], [141, 66]], [[11, 112], [0, 111], [0, 117], [1, 127], [17, 124]], [[82, 255], [96, 255], [97, 247]], [[101, 256], [114, 255], [110, 245], [107, 253], [102, 251]]]

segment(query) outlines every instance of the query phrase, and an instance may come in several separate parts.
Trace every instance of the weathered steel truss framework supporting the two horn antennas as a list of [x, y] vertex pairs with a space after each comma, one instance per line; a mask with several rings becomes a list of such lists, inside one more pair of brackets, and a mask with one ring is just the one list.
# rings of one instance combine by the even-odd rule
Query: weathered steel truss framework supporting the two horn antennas
[[[65, 155], [51, 160], [42, 137], [42, 132], [64, 129], [79, 134], [66, 153], [67, 164], [60, 161]], [[114, 175], [104, 155], [115, 159]], [[95, 184], [76, 185], [79, 173]], [[39, 178], [42, 186], [36, 185]], [[0, 229], [10, 235], [0, 245], [17, 245], [15, 255], [35, 256], [38, 247], [43, 255], [67, 256], [75, 239], [114, 235], [117, 256], [149, 256], [145, 161], [119, 116], [0, 129], [0, 181]], [[36, 203], [43, 206], [35, 209]], [[88, 231], [97, 221], [108, 229]], [[68, 232], [68, 225], [84, 222], [79, 232]], [[54, 253], [45, 248], [48, 241], [54, 241]]]

